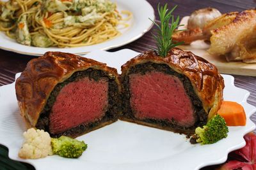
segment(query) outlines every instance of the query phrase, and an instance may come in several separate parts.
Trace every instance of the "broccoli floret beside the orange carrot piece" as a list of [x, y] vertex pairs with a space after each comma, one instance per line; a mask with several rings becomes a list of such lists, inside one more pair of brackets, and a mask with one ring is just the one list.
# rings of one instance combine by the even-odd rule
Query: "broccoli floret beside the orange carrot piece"
[[203, 128], [196, 127], [195, 133], [197, 136], [196, 142], [202, 145], [212, 144], [228, 136], [228, 127], [224, 118], [216, 115]]

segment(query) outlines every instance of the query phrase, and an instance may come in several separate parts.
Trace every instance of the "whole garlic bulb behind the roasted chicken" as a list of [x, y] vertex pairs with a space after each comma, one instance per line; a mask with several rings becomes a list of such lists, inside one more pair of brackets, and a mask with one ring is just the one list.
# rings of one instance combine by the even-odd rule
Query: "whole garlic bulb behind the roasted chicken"
[[193, 11], [188, 20], [188, 29], [203, 28], [214, 18], [220, 17], [221, 13], [215, 8], [203, 8]]

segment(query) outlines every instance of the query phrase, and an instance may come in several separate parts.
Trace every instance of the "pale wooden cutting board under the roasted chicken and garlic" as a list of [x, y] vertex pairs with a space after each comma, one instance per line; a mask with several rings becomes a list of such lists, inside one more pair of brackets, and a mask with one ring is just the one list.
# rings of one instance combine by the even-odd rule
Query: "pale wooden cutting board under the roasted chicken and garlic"
[[[184, 25], [179, 29], [186, 29], [188, 24], [188, 16], [180, 20], [180, 25]], [[191, 51], [200, 57], [208, 60], [212, 64], [218, 67], [218, 71], [224, 74], [237, 74], [244, 76], [256, 76], [256, 63], [246, 64], [244, 62], [227, 62], [225, 57], [210, 55], [207, 50], [209, 49], [209, 44], [202, 40], [194, 41], [190, 45], [180, 45], [179, 48], [185, 51]]]

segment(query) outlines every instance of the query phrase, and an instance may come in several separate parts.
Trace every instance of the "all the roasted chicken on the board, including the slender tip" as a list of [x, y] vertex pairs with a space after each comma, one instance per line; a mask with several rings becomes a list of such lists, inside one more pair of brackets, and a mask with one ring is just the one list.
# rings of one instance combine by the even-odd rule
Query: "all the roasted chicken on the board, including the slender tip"
[[185, 44], [198, 39], [210, 40], [212, 55], [225, 55], [227, 61], [256, 62], [256, 10], [225, 13], [202, 30], [177, 32], [172, 38]]

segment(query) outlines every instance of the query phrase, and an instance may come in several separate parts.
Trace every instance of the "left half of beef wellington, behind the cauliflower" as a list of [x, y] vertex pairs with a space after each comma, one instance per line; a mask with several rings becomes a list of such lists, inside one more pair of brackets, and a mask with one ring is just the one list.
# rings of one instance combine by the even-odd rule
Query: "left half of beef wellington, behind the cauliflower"
[[29, 61], [15, 89], [28, 127], [54, 137], [79, 136], [120, 114], [116, 69], [70, 53], [47, 52]]

